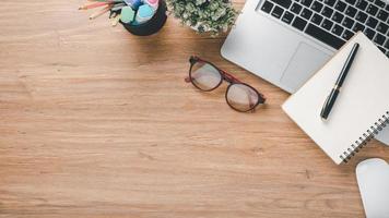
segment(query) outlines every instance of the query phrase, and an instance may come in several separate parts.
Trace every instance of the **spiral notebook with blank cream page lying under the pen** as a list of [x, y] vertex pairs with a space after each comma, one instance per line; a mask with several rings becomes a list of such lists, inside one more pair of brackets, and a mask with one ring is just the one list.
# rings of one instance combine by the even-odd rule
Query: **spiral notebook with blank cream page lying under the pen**
[[[359, 50], [327, 121], [320, 110], [355, 43]], [[282, 106], [332, 158], [346, 162], [389, 124], [389, 59], [362, 33]]]

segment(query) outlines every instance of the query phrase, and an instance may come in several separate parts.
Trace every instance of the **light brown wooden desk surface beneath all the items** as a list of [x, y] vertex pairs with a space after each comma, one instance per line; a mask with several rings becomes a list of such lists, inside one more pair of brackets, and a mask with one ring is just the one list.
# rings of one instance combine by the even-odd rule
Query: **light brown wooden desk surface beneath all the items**
[[[0, 5], [0, 217], [363, 217], [335, 166], [281, 110], [287, 94], [223, 60], [224, 37], [168, 19], [151, 37], [82, 0]], [[241, 8], [243, 1], [236, 2]], [[184, 83], [190, 55], [262, 90], [238, 113]]]

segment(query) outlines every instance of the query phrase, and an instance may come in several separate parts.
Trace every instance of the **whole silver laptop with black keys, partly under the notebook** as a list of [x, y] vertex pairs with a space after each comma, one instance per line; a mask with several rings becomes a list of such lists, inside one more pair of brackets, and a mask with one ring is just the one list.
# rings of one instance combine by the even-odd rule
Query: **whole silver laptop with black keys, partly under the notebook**
[[381, 0], [247, 0], [222, 56], [294, 93], [356, 32], [389, 57]]

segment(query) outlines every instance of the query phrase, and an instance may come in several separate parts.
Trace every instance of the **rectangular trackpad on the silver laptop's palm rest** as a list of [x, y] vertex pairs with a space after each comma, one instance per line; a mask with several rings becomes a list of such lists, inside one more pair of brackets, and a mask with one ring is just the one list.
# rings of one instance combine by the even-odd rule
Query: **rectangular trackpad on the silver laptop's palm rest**
[[300, 43], [281, 77], [281, 83], [291, 90], [297, 90], [329, 58], [323, 51]]

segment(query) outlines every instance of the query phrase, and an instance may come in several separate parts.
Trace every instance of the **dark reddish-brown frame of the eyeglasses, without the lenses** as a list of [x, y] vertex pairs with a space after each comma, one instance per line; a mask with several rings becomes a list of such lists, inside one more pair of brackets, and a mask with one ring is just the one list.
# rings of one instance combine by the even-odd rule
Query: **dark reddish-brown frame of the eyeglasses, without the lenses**
[[[194, 65], [197, 62], [208, 63], [208, 64], [212, 65], [214, 69], [217, 70], [217, 72], [219, 72], [220, 75], [221, 75], [221, 80], [220, 80], [219, 84], [217, 84], [215, 87], [213, 87], [213, 88], [211, 88], [211, 89], [209, 89], [209, 90], [204, 90], [204, 89], [200, 88], [199, 86], [197, 86], [197, 85], [194, 84], [194, 82], [193, 82], [193, 80], [192, 80], [191, 72], [192, 72], [193, 65]], [[192, 84], [194, 87], [197, 87], [198, 89], [200, 89], [200, 90], [202, 90], [202, 92], [207, 92], [207, 93], [212, 92], [212, 90], [219, 88], [219, 86], [222, 85], [223, 81], [227, 82], [227, 83], [228, 83], [228, 86], [227, 86], [227, 89], [225, 90], [225, 96], [224, 96], [224, 97], [225, 97], [225, 101], [227, 102], [227, 105], [228, 105], [232, 109], [234, 109], [234, 110], [236, 110], [236, 111], [238, 111], [238, 112], [255, 111], [256, 108], [257, 108], [259, 105], [263, 105], [263, 104], [266, 102], [266, 100], [267, 100], [267, 98], [264, 97], [264, 95], [262, 95], [261, 93], [259, 93], [255, 87], [250, 86], [250, 85], [247, 84], [247, 83], [243, 83], [243, 82], [239, 81], [237, 77], [233, 76], [231, 73], [227, 73], [226, 71], [224, 71], [224, 70], [222, 70], [222, 69], [220, 69], [220, 68], [217, 68], [215, 64], [213, 64], [213, 63], [211, 63], [211, 62], [209, 62], [209, 61], [207, 61], [207, 60], [203, 60], [203, 59], [201, 59], [201, 58], [199, 58], [199, 57], [197, 57], [197, 56], [191, 56], [190, 59], [189, 59], [189, 63], [190, 63], [189, 77], [186, 77], [186, 78], [185, 78], [185, 82], [191, 83], [191, 84]], [[251, 88], [254, 92], [256, 92], [256, 94], [258, 95], [258, 100], [257, 100], [257, 102], [256, 102], [250, 109], [248, 109], [248, 110], [238, 110], [238, 109], [234, 108], [234, 107], [228, 102], [228, 97], [227, 97], [228, 90], [229, 90], [231, 86], [237, 85], [237, 84], [248, 86], [248, 87]]]

